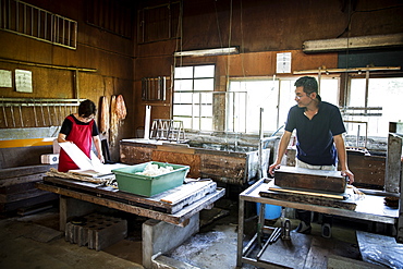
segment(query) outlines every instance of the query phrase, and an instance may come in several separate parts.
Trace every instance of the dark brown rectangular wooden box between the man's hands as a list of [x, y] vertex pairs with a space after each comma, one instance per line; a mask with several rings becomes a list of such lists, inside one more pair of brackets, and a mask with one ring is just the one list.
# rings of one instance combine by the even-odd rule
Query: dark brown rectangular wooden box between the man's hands
[[300, 188], [344, 193], [346, 180], [340, 171], [313, 170], [295, 167], [281, 167], [274, 171], [276, 185], [283, 188]]

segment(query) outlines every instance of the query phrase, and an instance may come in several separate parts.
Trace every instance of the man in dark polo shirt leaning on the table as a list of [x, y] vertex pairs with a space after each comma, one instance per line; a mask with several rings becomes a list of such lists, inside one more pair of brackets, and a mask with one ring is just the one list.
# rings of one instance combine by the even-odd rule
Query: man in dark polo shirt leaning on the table
[[[296, 105], [289, 111], [285, 131], [280, 139], [277, 159], [269, 168], [269, 173], [280, 168], [281, 160], [290, 144], [293, 131], [296, 131], [296, 167], [319, 170], [337, 170], [338, 161], [341, 174], [347, 176], [350, 184], [354, 174], [349, 170], [343, 133], [344, 123], [340, 110], [334, 105], [322, 101], [318, 95], [315, 77], [304, 76], [295, 82]], [[297, 232], [310, 233], [310, 212], [297, 210], [301, 223]], [[322, 235], [328, 237], [329, 231]], [[323, 233], [325, 232], [325, 233]]]

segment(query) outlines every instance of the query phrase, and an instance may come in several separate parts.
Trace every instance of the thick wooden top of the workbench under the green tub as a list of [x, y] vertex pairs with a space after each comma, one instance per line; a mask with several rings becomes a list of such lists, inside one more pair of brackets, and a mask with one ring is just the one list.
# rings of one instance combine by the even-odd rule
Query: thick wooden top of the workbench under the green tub
[[[217, 184], [212, 181], [183, 184], [151, 197], [121, 192], [101, 184], [56, 176], [45, 176], [44, 181], [37, 183], [36, 186], [60, 194], [62, 197], [66, 196], [175, 225], [183, 225], [193, 215], [211, 206], [225, 193], [224, 188], [217, 188]], [[176, 199], [170, 203], [162, 201], [169, 197], [176, 197]], [[73, 212], [68, 212], [68, 210], [72, 209], [61, 206], [61, 231], [64, 231], [63, 223], [65, 224], [68, 219], [73, 216]]]

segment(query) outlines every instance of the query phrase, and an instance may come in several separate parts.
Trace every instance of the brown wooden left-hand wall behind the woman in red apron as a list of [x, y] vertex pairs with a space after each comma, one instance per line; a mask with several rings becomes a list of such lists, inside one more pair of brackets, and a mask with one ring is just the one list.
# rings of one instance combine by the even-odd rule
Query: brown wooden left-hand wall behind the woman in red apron
[[[124, 38], [86, 23], [88, 1], [82, 0], [28, 0], [37, 8], [65, 16], [77, 22], [77, 47], [69, 49], [49, 42], [0, 30], [0, 70], [16, 69], [32, 71], [33, 93], [17, 93], [13, 87], [0, 88], [0, 97], [26, 99], [91, 99], [99, 108], [102, 96], [109, 100], [112, 96], [123, 95], [127, 117], [118, 129], [118, 142], [132, 136], [134, 121], [134, 40]], [[127, 7], [131, 8], [131, 7]], [[3, 12], [3, 11], [1, 11]], [[132, 21], [127, 21], [131, 24]], [[81, 69], [84, 71], [76, 71]], [[99, 109], [98, 109], [99, 111]], [[19, 132], [26, 127], [47, 127], [61, 125], [65, 115], [75, 110], [60, 110], [51, 107], [50, 111], [39, 108], [14, 108], [1, 113], [0, 129], [15, 129]], [[99, 115], [99, 113], [98, 113]], [[21, 121], [21, 118], [23, 119]], [[45, 119], [42, 119], [45, 118]], [[13, 122], [14, 121], [14, 122]], [[14, 124], [15, 123], [15, 124]], [[35, 137], [35, 134], [33, 134]], [[11, 138], [11, 137], [10, 137]], [[101, 135], [108, 138], [109, 134]], [[119, 145], [112, 145], [112, 159], [119, 159]]]

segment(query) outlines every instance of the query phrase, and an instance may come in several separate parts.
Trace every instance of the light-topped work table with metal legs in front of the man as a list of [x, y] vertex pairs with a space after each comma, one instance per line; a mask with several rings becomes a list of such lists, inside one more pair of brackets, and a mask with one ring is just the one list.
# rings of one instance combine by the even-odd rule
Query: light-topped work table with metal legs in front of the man
[[[316, 211], [321, 213], [347, 217], [353, 219], [369, 220], [381, 223], [395, 224], [399, 219], [399, 209], [390, 208], [383, 204], [384, 196], [378, 195], [352, 195], [345, 203], [355, 204], [354, 209], [337, 208], [330, 206], [328, 203], [326, 206], [321, 205], [320, 201], [317, 204], [308, 204], [307, 201], [292, 201], [284, 199], [282, 194], [276, 194], [273, 192], [272, 196], [264, 197], [260, 193], [266, 193], [270, 186], [273, 186], [273, 180], [261, 179], [256, 182], [254, 185], [249, 186], [243, 193], [240, 194], [240, 210], [239, 210], [239, 231], [237, 231], [237, 260], [236, 265], [241, 266], [243, 262], [252, 264], [258, 267], [268, 267], [273, 268], [271, 261], [265, 260], [265, 254], [261, 256], [262, 259], [248, 257], [247, 253], [251, 253], [251, 249], [257, 242], [260, 242], [262, 233], [267, 230], [267, 227], [264, 225], [264, 216], [265, 216], [265, 205], [276, 205], [288, 208], [303, 209], [309, 211]], [[258, 232], [255, 236], [248, 242], [244, 247], [244, 215], [245, 215], [245, 201], [260, 203], [260, 217], [258, 218]], [[296, 236], [294, 243], [297, 243], [301, 237], [297, 233], [292, 233], [292, 237]], [[300, 237], [298, 237], [300, 236]], [[301, 239], [302, 240], [302, 239]], [[301, 242], [300, 242], [301, 243]], [[305, 243], [310, 244], [310, 241]], [[305, 244], [304, 243], [304, 244]], [[301, 243], [303, 244], [303, 243]], [[309, 246], [307, 246], [309, 249]], [[268, 247], [270, 248], [270, 246]], [[266, 255], [266, 258], [270, 255]], [[304, 256], [306, 258], [306, 256]], [[276, 267], [277, 268], [277, 267]]]

